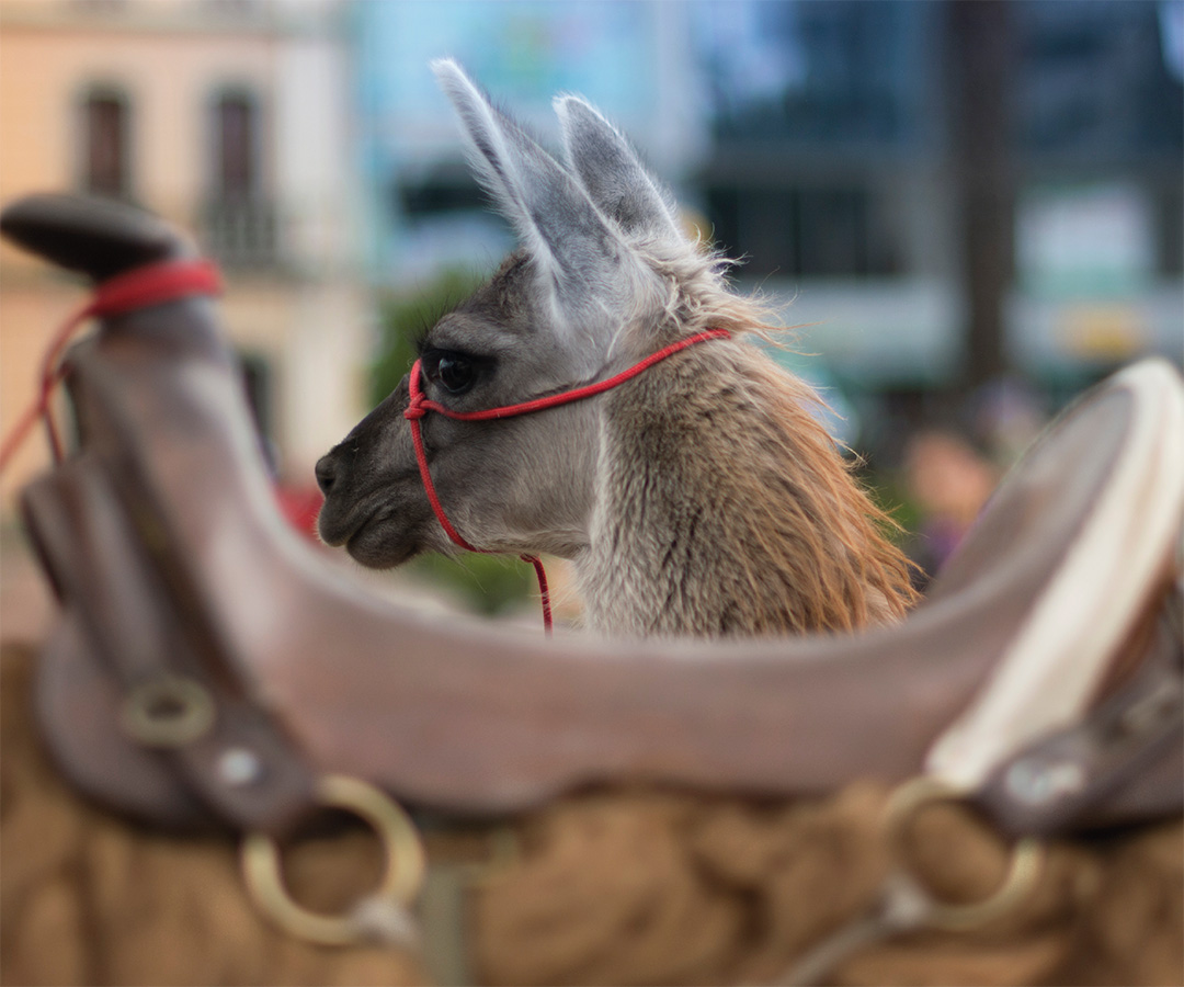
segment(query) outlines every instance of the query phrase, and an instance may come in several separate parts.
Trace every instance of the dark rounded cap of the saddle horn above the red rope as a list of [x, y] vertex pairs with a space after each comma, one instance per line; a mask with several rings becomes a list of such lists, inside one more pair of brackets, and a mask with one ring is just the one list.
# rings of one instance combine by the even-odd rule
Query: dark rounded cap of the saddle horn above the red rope
[[0, 213], [0, 232], [57, 267], [95, 282], [159, 261], [197, 256], [175, 227], [111, 199], [41, 193]]

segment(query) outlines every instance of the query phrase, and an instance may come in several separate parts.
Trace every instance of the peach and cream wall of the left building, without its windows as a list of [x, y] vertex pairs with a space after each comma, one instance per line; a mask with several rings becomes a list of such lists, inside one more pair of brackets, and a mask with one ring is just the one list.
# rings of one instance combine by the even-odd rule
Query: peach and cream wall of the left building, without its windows
[[[126, 0], [104, 20], [71, 0], [0, 0], [0, 201], [78, 187], [81, 100], [90, 85], [112, 84], [131, 105], [134, 198], [192, 229], [210, 187], [212, 101], [225, 86], [249, 86], [260, 101], [260, 169], [289, 263], [264, 275], [227, 270], [223, 310], [236, 345], [268, 360], [276, 437], [288, 467], [308, 479], [360, 411], [366, 297], [348, 262], [345, 57], [332, 37], [283, 21], [290, 5], [257, 4], [245, 19], [211, 23], [213, 6]], [[303, 113], [309, 91], [320, 104]], [[79, 286], [0, 248], [4, 432], [34, 395], [45, 341], [82, 297]], [[310, 386], [317, 380], [323, 386]], [[0, 478], [5, 509], [44, 462], [34, 437]]]

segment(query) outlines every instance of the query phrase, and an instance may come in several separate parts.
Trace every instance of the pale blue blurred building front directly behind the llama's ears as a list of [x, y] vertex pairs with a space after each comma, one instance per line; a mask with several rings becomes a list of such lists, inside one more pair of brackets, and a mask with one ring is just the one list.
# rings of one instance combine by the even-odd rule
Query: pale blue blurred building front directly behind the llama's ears
[[513, 244], [465, 165], [435, 58], [455, 57], [554, 150], [559, 92], [600, 107], [676, 185], [707, 147], [683, 4], [360, 0], [352, 17], [365, 241], [380, 282], [489, 268]]

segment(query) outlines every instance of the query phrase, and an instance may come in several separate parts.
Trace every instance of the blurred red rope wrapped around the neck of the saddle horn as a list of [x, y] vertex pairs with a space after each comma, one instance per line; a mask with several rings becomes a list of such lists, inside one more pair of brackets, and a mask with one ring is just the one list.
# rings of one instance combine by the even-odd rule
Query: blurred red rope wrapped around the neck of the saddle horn
[[161, 261], [118, 274], [98, 284], [91, 300], [75, 312], [51, 340], [41, 364], [41, 386], [38, 396], [0, 446], [0, 472], [8, 464], [8, 460], [24, 443], [39, 418], [45, 423], [53, 459], [58, 462], [63, 460], [65, 454], [57, 427], [53, 424], [53, 416], [50, 414], [50, 400], [64, 373], [60, 365], [62, 352], [88, 319], [123, 315], [137, 308], [163, 305], [191, 295], [217, 295], [220, 291], [221, 277], [218, 268], [205, 259]]

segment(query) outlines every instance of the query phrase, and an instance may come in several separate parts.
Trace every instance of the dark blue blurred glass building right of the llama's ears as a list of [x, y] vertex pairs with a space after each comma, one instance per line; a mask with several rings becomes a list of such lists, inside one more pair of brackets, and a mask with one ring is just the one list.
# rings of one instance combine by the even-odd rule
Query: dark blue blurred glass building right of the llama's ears
[[[1180, 363], [1184, 5], [742, 6], [699, 8], [707, 211], [806, 348], [942, 386], [991, 363], [993, 315], [989, 372], [1072, 387]], [[753, 51], [776, 66], [757, 82]]]

